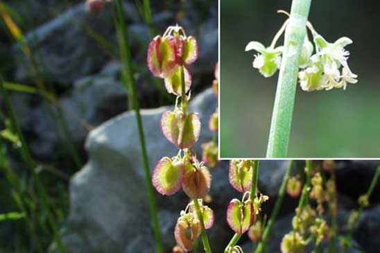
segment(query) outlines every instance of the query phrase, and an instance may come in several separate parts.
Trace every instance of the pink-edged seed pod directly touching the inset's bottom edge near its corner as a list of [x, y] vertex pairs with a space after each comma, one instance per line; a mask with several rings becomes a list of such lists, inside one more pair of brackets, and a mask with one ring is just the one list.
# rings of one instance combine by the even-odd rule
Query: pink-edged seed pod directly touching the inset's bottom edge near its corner
[[231, 161], [228, 178], [236, 191], [245, 193], [245, 191], [249, 191], [252, 185], [252, 168], [248, 168], [248, 166], [239, 167], [236, 161]]

